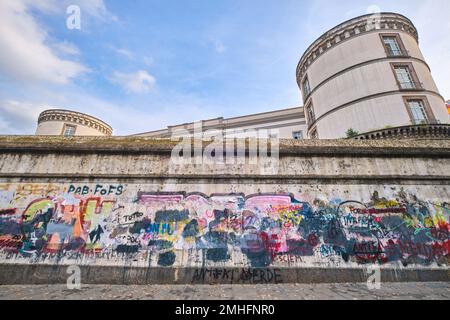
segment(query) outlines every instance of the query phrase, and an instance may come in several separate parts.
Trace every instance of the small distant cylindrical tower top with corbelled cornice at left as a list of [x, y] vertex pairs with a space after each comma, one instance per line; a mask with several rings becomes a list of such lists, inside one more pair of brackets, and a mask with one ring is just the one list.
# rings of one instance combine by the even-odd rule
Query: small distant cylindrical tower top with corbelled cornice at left
[[84, 113], [54, 109], [39, 115], [36, 135], [110, 136], [112, 128], [102, 120]]

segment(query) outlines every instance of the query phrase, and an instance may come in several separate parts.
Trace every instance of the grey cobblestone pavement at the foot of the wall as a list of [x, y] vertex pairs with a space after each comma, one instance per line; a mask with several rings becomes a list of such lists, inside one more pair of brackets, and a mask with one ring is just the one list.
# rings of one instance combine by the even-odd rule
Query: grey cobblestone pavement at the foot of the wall
[[5, 299], [450, 300], [450, 282], [386, 283], [379, 290], [369, 290], [366, 284], [83, 285], [81, 290], [65, 285], [0, 286], [0, 300]]

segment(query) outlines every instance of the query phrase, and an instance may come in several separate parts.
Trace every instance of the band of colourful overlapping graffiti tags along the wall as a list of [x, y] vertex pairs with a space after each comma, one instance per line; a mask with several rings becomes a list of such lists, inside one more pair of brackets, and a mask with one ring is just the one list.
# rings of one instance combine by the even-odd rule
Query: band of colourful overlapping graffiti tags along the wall
[[366, 201], [319, 196], [306, 202], [286, 194], [151, 193], [108, 184], [0, 185], [0, 261], [132, 261], [207, 270], [448, 265], [448, 202], [404, 194], [374, 193]]

